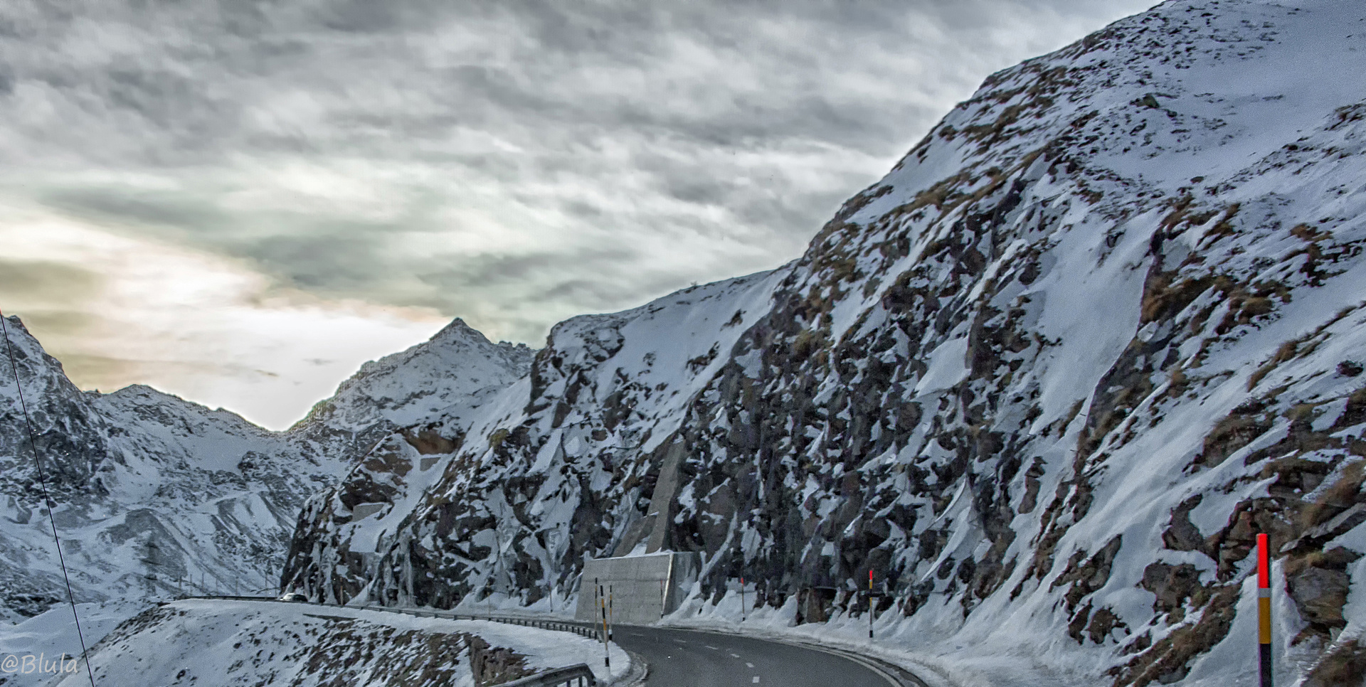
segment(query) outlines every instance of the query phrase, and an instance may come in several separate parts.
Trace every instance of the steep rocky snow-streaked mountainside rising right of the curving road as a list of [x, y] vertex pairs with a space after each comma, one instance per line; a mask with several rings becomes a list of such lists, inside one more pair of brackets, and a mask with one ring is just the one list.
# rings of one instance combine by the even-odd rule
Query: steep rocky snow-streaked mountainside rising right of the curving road
[[[285, 579], [448, 606], [699, 550], [1078, 684], [1366, 662], [1366, 8], [1182, 0], [992, 75], [779, 270], [574, 318], [310, 500]], [[1354, 585], [1355, 580], [1355, 585]], [[1251, 634], [1250, 634], [1251, 632]], [[1019, 665], [1012, 664], [1012, 671]], [[1359, 675], [1359, 672], [1356, 673]]]

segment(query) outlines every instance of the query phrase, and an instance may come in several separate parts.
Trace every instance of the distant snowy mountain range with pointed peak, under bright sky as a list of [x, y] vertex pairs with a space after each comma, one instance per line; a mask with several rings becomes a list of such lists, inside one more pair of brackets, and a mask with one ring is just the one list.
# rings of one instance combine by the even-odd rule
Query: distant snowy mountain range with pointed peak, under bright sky
[[[7, 320], [78, 601], [273, 591], [303, 500], [374, 438], [430, 408], [477, 403], [531, 352], [452, 322], [366, 363], [290, 432], [148, 387], [82, 392], [18, 317]], [[395, 389], [403, 388], [402, 393]], [[0, 374], [0, 613], [66, 601], [10, 361]]]

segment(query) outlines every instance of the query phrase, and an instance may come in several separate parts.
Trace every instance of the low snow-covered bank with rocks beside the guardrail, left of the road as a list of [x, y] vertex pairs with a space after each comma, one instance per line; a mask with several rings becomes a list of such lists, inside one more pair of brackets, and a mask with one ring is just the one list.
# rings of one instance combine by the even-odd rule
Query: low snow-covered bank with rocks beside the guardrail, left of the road
[[[600, 682], [624, 673], [627, 656], [567, 632], [484, 620], [415, 617], [313, 604], [186, 600], [154, 606], [113, 630], [93, 650], [101, 684], [474, 687], [470, 646], [485, 665], [514, 675], [589, 664]], [[478, 642], [474, 642], [478, 643]], [[479, 649], [477, 649], [479, 650]], [[76, 687], [85, 673], [55, 687]]]

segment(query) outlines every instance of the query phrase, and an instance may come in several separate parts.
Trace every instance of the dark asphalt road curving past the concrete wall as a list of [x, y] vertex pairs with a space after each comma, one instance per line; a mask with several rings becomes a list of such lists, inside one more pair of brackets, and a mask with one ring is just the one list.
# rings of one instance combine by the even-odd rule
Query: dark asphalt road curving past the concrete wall
[[892, 687], [848, 658], [747, 636], [690, 630], [613, 630], [623, 649], [650, 664], [649, 687]]

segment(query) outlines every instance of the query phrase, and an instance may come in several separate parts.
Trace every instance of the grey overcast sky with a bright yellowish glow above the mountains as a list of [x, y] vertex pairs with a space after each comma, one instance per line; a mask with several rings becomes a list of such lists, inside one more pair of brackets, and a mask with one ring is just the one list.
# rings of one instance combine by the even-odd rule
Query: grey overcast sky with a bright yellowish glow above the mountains
[[463, 317], [800, 254], [990, 72], [1150, 0], [0, 3], [0, 307], [284, 427]]

